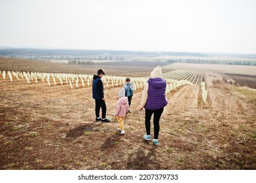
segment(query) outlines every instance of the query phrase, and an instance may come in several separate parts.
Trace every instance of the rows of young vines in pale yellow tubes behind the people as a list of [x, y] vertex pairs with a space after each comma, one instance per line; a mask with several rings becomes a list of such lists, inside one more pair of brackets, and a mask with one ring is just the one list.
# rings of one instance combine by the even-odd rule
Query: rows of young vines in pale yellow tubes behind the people
[[[48, 86], [52, 85], [64, 85], [69, 84], [70, 88], [73, 89], [75, 84], [75, 88], [79, 88], [79, 85], [82, 87], [91, 86], [93, 76], [94, 75], [82, 75], [82, 74], [61, 74], [61, 73], [33, 73], [33, 72], [10, 72], [10, 71], [0, 71], [0, 75], [2, 75], [3, 80], [9, 80], [12, 82], [13, 78], [16, 80], [26, 80], [27, 84], [32, 84], [34, 82], [37, 84], [39, 81], [46, 82]], [[8, 78], [7, 78], [8, 76]], [[202, 73], [196, 71], [172, 71], [168, 73], [164, 73], [164, 78], [167, 81], [166, 94], [172, 92], [179, 86], [183, 86], [185, 84], [191, 84], [192, 86], [196, 86], [198, 84], [198, 80], [202, 81]], [[104, 76], [101, 78], [103, 84], [107, 88], [115, 87], [115, 86], [123, 86], [125, 84], [126, 77], [123, 76]], [[147, 83], [148, 78], [142, 77], [134, 77], [130, 78], [133, 85], [134, 90], [143, 89], [145, 84]], [[177, 80], [180, 79], [180, 80]]]

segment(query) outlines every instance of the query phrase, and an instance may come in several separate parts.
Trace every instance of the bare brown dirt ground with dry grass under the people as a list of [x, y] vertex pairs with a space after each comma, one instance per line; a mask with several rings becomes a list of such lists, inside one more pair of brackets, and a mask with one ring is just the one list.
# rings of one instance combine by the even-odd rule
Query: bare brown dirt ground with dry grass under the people
[[111, 123], [101, 124], [91, 87], [0, 77], [0, 169], [256, 169], [255, 90], [241, 94], [219, 73], [206, 72], [205, 81], [207, 105], [200, 86], [168, 94], [153, 146], [142, 138], [142, 90], [120, 135], [113, 116], [120, 87], [105, 88]]

